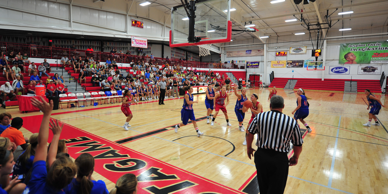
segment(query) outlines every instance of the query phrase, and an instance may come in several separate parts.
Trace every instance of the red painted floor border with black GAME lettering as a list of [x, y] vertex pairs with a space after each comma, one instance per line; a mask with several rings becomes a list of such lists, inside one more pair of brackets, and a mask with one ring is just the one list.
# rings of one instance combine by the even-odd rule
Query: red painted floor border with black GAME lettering
[[[43, 115], [23, 117], [23, 127], [38, 133], [40, 125], [33, 123], [42, 118]], [[66, 123], [61, 139], [66, 140], [72, 158], [82, 153], [92, 154], [94, 170], [112, 182], [125, 173], [135, 174], [139, 194], [244, 194]]]

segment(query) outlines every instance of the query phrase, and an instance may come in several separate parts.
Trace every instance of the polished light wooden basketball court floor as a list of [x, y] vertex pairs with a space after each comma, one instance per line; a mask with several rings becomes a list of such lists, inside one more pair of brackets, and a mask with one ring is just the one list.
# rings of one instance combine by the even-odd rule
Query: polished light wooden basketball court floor
[[[253, 88], [248, 90], [247, 95], [253, 93], [259, 94], [258, 101], [263, 104], [263, 111], [269, 111], [268, 90]], [[283, 113], [291, 116], [296, 107], [296, 93], [278, 90], [277, 94], [285, 99]], [[367, 122], [369, 112], [364, 94], [330, 94], [306, 92], [311, 98], [308, 100], [310, 114], [306, 121], [313, 132], [304, 138], [298, 165], [289, 168], [285, 193], [388, 193], [388, 109], [381, 109], [378, 115], [381, 126], [364, 127], [362, 124]], [[199, 101], [193, 106], [196, 118], [206, 116], [204, 94], [194, 98]], [[388, 105], [386, 99], [386, 96], [382, 96], [381, 102]], [[53, 115], [52, 118], [111, 141], [180, 123], [183, 98], [166, 100], [165, 105], [161, 106], [157, 102], [147, 102], [131, 106], [133, 119], [129, 131], [121, 128], [126, 117], [117, 106], [120, 103], [97, 106], [104, 109], [93, 106], [60, 109], [53, 113], [65, 114]], [[227, 110], [232, 127], [227, 127], [224, 116], [220, 114], [215, 126], [206, 124], [206, 119], [197, 122], [201, 132], [206, 135], [203, 137], [196, 137], [193, 126], [187, 125], [181, 127], [178, 133], [168, 130], [122, 145], [241, 191], [242, 185], [256, 169], [254, 161], [247, 157], [246, 146], [242, 145], [244, 132], [237, 129], [235, 104], [236, 96], [230, 93]], [[22, 114], [18, 109], [6, 111], [12, 117], [42, 114]], [[245, 126], [249, 118], [250, 114], [246, 114]], [[24, 128], [21, 131], [27, 137], [31, 134]], [[231, 143], [235, 150], [227, 155], [233, 149]], [[171, 160], [171, 157], [178, 159]], [[114, 187], [105, 177], [97, 173], [94, 177], [104, 180], [108, 189]]]

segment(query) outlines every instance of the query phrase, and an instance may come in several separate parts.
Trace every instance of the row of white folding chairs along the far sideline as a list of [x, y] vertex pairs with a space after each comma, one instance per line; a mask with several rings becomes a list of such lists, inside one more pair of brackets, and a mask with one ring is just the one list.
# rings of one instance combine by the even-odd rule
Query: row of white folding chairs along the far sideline
[[[74, 104], [74, 106], [80, 107], [80, 102], [83, 102], [83, 106], [88, 106], [87, 100], [90, 100], [90, 105], [94, 104], [95, 102], [97, 104], [102, 104], [102, 101], [104, 101], [104, 104], [114, 103], [114, 100], [116, 99], [116, 102], [120, 100], [121, 102], [124, 99], [123, 93], [121, 90], [119, 91], [107, 91], [107, 92], [85, 92], [85, 93], [77, 93], [77, 94], [59, 94], [59, 104], [62, 107], [62, 102], [66, 102], [67, 107], [71, 108], [71, 104]], [[109, 100], [109, 102], [108, 102]]]

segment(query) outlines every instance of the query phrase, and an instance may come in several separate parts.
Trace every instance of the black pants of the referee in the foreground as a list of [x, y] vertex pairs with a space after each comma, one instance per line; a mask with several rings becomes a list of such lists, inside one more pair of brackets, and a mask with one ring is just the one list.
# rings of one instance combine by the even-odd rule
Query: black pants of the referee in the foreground
[[255, 164], [260, 194], [284, 193], [289, 167], [287, 153], [258, 148]]

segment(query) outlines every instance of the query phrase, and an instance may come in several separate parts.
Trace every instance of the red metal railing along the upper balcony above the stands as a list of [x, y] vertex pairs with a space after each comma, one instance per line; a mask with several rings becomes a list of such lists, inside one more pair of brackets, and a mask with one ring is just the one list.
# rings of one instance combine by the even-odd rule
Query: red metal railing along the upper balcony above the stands
[[[86, 57], [93, 57], [94, 61], [100, 60], [100, 62], [105, 62], [107, 59], [113, 61], [116, 59], [118, 66], [122, 66], [123, 63], [130, 63], [137, 61], [147, 61], [156, 64], [158, 62], [159, 65], [162, 64], [170, 64], [170, 65], [179, 65], [182, 67], [191, 67], [191, 68], [227, 68], [227, 69], [239, 69], [241, 64], [223, 64], [218, 62], [196, 62], [196, 61], [181, 61], [176, 59], [163, 59], [154, 57], [151, 59], [150, 56], [140, 56], [140, 55], [126, 55], [126, 54], [113, 54], [106, 52], [90, 52], [86, 50], [77, 50], [77, 49], [64, 49], [57, 47], [46, 47], [46, 46], [38, 46], [38, 45], [27, 45], [20, 43], [8, 43], [8, 42], [0, 42], [0, 51], [4, 52], [5, 55], [9, 54], [10, 51], [14, 51], [16, 55], [18, 52], [21, 52], [21, 55], [27, 53], [29, 57], [43, 58], [43, 59], [59, 59], [61, 60], [63, 56], [67, 56], [69, 59], [71, 57], [81, 57], [83, 60]], [[60, 64], [61, 62], [58, 61]], [[245, 64], [242, 64], [245, 67]]]

